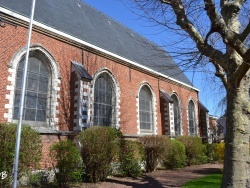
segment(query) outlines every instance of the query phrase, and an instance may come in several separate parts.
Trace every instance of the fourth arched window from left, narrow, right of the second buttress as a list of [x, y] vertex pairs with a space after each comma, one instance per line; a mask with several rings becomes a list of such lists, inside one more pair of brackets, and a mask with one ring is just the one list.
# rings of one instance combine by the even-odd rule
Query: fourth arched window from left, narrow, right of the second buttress
[[172, 95], [174, 110], [174, 130], [175, 136], [181, 135], [179, 100], [176, 95]]

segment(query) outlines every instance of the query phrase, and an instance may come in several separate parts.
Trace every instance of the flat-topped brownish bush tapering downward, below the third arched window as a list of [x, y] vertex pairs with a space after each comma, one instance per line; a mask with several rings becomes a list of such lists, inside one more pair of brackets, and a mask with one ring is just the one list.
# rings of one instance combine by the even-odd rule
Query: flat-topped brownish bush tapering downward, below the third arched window
[[163, 160], [166, 148], [170, 145], [170, 139], [166, 136], [143, 136], [140, 142], [144, 146], [145, 169], [147, 172], [154, 171]]

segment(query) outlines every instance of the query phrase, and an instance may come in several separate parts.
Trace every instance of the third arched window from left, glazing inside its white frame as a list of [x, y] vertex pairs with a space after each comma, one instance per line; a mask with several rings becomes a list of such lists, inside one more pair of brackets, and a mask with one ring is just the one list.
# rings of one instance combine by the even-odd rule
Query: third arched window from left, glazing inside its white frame
[[140, 130], [153, 131], [152, 94], [147, 86], [143, 86], [139, 93]]

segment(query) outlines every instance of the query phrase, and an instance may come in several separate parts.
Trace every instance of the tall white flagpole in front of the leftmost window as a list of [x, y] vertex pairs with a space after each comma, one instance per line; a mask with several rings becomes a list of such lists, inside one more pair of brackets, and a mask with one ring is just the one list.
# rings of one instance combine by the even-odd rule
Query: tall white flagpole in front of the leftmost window
[[27, 41], [27, 47], [26, 47], [27, 52], [25, 54], [24, 73], [23, 73], [23, 79], [22, 79], [22, 92], [21, 92], [20, 105], [19, 105], [19, 120], [18, 120], [17, 132], [16, 132], [16, 148], [15, 148], [15, 159], [14, 159], [14, 167], [13, 167], [14, 168], [13, 188], [17, 187], [18, 160], [19, 160], [21, 127], [22, 127], [22, 118], [23, 118], [23, 104], [24, 104], [24, 97], [25, 97], [29, 49], [30, 49], [30, 40], [31, 40], [31, 33], [32, 33], [32, 23], [33, 23], [33, 18], [34, 18], [35, 4], [36, 4], [36, 0], [33, 0], [31, 13], [30, 13], [29, 35], [28, 35], [28, 41]]

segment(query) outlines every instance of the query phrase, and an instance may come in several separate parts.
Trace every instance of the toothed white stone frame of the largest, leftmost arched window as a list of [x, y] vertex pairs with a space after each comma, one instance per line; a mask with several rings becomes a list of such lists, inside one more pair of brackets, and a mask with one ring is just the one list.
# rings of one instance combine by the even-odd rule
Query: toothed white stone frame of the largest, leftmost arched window
[[[47, 58], [48, 67], [51, 71], [51, 97], [50, 101], [48, 101], [48, 104], [50, 107], [48, 108], [48, 111], [46, 112], [47, 120], [45, 123], [40, 122], [33, 122], [33, 121], [23, 121], [23, 124], [30, 125], [32, 127], [38, 127], [38, 130], [41, 129], [41, 132], [46, 131], [47, 128], [50, 128], [52, 130], [58, 130], [57, 124], [58, 124], [58, 117], [59, 111], [57, 110], [58, 107], [58, 100], [60, 98], [58, 91], [60, 91], [59, 84], [61, 83], [61, 75], [59, 72], [59, 66], [54, 57], [41, 45], [31, 45], [30, 46], [30, 53], [32, 52], [38, 52], [41, 53], [45, 58]], [[6, 95], [6, 99], [8, 100], [8, 103], [5, 104], [5, 108], [8, 110], [7, 113], [4, 114], [4, 117], [7, 119], [8, 122], [17, 123], [18, 120], [13, 119], [14, 114], [14, 98], [15, 98], [15, 85], [16, 85], [16, 73], [17, 73], [17, 67], [19, 62], [24, 58], [26, 53], [26, 47], [18, 50], [12, 60], [8, 64], [8, 81], [10, 82], [9, 85], [7, 85], [6, 89], [9, 92]], [[45, 128], [45, 129], [43, 129]]]

